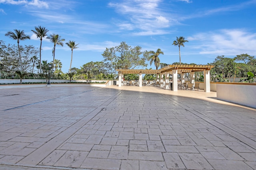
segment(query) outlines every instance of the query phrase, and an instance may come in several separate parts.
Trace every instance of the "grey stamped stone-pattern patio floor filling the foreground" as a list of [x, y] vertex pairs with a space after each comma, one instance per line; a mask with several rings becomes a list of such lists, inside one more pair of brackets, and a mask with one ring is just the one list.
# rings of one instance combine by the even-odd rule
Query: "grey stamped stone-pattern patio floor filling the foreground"
[[256, 109], [156, 87], [0, 89], [0, 170], [253, 170]]

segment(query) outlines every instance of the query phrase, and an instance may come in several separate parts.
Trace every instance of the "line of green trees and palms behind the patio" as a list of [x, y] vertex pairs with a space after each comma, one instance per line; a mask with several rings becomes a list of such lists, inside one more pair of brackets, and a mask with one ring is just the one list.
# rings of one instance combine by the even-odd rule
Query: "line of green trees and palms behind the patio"
[[[24, 31], [14, 29], [14, 32], [8, 31], [6, 36], [17, 40], [18, 46], [16, 45], [5, 45], [3, 41], [0, 41], [0, 71], [2, 72], [1, 78], [10, 78], [14, 74], [19, 78], [46, 78], [51, 73], [52, 78], [57, 79], [114, 79], [116, 78], [116, 69], [138, 69], [150, 66], [154, 63], [156, 69], [162, 68], [168, 64], [187, 64], [181, 62], [180, 47], [184, 47], [184, 43], [188, 42], [184, 37], [176, 37], [172, 45], [179, 47], [179, 58], [180, 62], [177, 63], [160, 63], [159, 55], [164, 55], [161, 49], [156, 51], [142, 51], [142, 47], [136, 46], [131, 47], [126, 42], [121, 42], [116, 47], [106, 48], [102, 53], [103, 61], [89, 62], [80, 66], [80, 68], [72, 68], [72, 55], [73, 50], [78, 48], [75, 41], [69, 41], [66, 43], [72, 50], [71, 62], [68, 73], [63, 73], [62, 63], [60, 60], [55, 59], [55, 47], [56, 45], [63, 46], [63, 41], [60, 35], [52, 34], [47, 36], [48, 30], [45, 27], [35, 27], [32, 30], [38, 38], [40, 38], [40, 49], [32, 45], [19, 45], [20, 41], [30, 39], [28, 35], [24, 34]], [[47, 36], [47, 37], [46, 37]], [[46, 37], [54, 44], [52, 49], [53, 60], [48, 63], [46, 60], [42, 60], [41, 47], [42, 39]], [[38, 59], [39, 54], [39, 59]], [[49, 65], [51, 64], [51, 65]], [[194, 63], [190, 63], [194, 64]], [[212, 82], [218, 80], [231, 81], [233, 77], [246, 77], [247, 72], [250, 71], [254, 75], [256, 74], [256, 61], [254, 56], [248, 54], [237, 55], [233, 59], [226, 58], [224, 56], [216, 57], [215, 61], [208, 63], [215, 67], [211, 70]], [[35, 73], [35, 68], [38, 72]], [[4, 76], [3, 76], [4, 75]], [[186, 74], [189, 79], [189, 73]], [[126, 80], [137, 79], [137, 75], [125, 75]], [[170, 77], [171, 78], [171, 77]], [[144, 76], [145, 80], [154, 80], [155, 75]], [[196, 81], [203, 81], [202, 72], [196, 72]]]

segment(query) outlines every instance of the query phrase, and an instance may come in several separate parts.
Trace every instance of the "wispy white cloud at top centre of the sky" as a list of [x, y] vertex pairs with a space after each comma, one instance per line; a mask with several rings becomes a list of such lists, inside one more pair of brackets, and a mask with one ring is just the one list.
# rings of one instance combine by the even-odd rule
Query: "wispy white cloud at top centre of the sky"
[[[164, 27], [170, 27], [175, 22], [169, 18], [168, 13], [159, 8], [161, 0], [129, 0], [122, 3], [109, 3], [110, 7], [116, 9], [116, 12], [122, 14], [125, 19], [122, 23], [116, 23], [120, 29], [141, 30], [137, 35], [156, 35], [161, 33]], [[126, 27], [124, 27], [126, 26]]]

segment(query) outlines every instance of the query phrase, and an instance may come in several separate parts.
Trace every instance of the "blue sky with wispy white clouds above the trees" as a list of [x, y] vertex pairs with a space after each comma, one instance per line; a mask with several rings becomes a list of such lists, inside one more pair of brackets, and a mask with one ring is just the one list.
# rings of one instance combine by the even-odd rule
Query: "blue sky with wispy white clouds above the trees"
[[[21, 45], [40, 47], [31, 31], [39, 25], [65, 43], [79, 43], [73, 52], [76, 68], [102, 61], [106, 47], [122, 41], [142, 51], [160, 48], [160, 63], [178, 62], [178, 47], [172, 43], [180, 36], [189, 41], [181, 47], [183, 63], [207, 64], [218, 55], [256, 56], [256, 0], [0, 0], [0, 18], [0, 40], [6, 44], [16, 41], [4, 34], [20, 29], [31, 37]], [[42, 60], [52, 61], [52, 48], [44, 39]], [[68, 72], [71, 49], [57, 46], [55, 58]]]

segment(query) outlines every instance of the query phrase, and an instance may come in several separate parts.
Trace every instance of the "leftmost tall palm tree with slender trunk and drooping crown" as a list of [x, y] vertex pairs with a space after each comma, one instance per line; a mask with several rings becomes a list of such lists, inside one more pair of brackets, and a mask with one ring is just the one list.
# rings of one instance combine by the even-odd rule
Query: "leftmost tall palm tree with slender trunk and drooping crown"
[[24, 30], [20, 31], [20, 29], [14, 29], [14, 32], [8, 31], [5, 36], [10, 37], [13, 40], [17, 40], [18, 43], [18, 51], [19, 51], [19, 57], [20, 57], [20, 73], [22, 74], [22, 59], [20, 55], [20, 41], [30, 39], [29, 35], [25, 35]]

